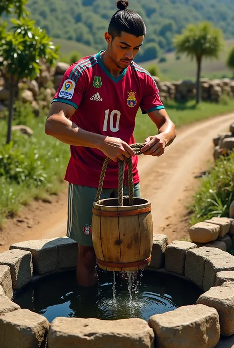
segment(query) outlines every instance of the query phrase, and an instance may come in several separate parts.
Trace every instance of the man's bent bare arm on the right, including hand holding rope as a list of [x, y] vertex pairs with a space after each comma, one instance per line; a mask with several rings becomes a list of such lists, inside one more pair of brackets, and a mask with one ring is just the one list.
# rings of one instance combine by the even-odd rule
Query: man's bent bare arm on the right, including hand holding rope
[[169, 146], [176, 137], [175, 125], [165, 109], [155, 110], [148, 114], [158, 128], [158, 135], [149, 136], [141, 151], [144, 155], [161, 156], [165, 147]]

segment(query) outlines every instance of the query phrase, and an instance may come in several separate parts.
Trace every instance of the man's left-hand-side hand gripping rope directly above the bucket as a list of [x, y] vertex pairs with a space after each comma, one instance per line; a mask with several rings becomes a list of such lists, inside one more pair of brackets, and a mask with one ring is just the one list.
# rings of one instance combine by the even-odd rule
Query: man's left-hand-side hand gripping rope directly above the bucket
[[118, 158], [123, 161], [125, 157], [129, 158], [135, 155], [130, 145], [115, 137], [105, 137], [97, 148], [114, 162], [117, 162]]

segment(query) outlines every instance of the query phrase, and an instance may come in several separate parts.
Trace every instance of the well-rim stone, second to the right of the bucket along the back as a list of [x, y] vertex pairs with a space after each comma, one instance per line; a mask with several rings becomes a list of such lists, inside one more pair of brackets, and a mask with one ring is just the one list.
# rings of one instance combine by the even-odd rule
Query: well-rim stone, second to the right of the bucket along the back
[[169, 272], [184, 275], [186, 253], [190, 249], [197, 249], [197, 245], [178, 240], [170, 243], [165, 251], [165, 269]]

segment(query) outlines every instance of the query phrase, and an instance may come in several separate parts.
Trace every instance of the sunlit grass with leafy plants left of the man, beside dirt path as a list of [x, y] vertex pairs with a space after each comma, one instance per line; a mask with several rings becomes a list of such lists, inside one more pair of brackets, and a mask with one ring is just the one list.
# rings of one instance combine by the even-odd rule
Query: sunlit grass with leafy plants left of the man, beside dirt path
[[45, 117], [30, 117], [25, 107], [21, 113], [34, 135], [13, 132], [13, 146], [5, 145], [6, 121], [0, 119], [0, 226], [32, 199], [59, 193], [70, 155], [69, 146], [45, 135]]

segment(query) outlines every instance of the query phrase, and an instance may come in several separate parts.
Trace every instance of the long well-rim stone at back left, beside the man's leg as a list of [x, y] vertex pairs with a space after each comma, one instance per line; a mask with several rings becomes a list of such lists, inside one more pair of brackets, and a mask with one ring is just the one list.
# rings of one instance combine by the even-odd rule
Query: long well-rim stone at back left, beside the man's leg
[[78, 244], [70, 238], [28, 240], [12, 244], [10, 250], [20, 249], [32, 254], [34, 272], [39, 275], [75, 267]]

